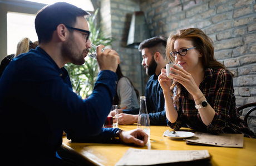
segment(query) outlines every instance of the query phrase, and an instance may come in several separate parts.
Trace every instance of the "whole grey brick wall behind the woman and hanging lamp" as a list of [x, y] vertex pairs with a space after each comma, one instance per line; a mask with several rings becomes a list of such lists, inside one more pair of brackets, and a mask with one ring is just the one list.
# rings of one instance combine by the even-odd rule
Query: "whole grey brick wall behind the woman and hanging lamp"
[[[143, 11], [152, 37], [195, 27], [214, 41], [215, 58], [234, 76], [237, 105], [256, 102], [256, 2], [255, 0], [102, 0], [110, 11], [101, 10], [102, 20], [110, 17], [110, 33], [117, 40], [112, 47], [120, 54], [122, 71], [143, 93], [141, 59], [136, 49], [126, 48], [131, 14]], [[106, 6], [106, 4], [105, 4]], [[102, 6], [103, 7], [103, 6]], [[105, 14], [106, 12], [106, 14]], [[142, 70], [142, 74], [145, 71]], [[141, 81], [144, 84], [141, 84]], [[255, 111], [256, 113], [256, 111]], [[255, 115], [253, 112], [253, 115]], [[256, 131], [256, 120], [251, 118]]]

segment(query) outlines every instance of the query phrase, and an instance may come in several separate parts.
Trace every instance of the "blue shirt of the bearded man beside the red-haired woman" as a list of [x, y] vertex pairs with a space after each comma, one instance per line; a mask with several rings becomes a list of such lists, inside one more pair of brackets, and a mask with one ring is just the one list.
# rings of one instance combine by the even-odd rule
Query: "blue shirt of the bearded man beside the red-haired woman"
[[[145, 87], [147, 112], [149, 113], [150, 125], [167, 125], [165, 115], [165, 100], [157, 75], [152, 75]], [[124, 113], [139, 114], [139, 109], [124, 110]]]

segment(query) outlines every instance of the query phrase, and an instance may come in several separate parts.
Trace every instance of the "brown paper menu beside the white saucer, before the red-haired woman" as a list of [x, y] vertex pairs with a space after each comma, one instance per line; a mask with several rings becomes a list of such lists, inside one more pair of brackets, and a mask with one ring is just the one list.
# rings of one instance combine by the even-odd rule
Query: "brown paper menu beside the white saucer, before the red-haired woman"
[[195, 132], [195, 136], [186, 139], [188, 143], [209, 144], [220, 147], [243, 148], [244, 134], [218, 134]]

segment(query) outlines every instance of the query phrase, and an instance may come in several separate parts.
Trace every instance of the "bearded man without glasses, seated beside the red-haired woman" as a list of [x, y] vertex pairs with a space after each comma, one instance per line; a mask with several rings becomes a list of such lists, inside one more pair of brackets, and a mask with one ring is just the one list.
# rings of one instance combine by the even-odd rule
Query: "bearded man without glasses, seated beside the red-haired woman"
[[[168, 62], [165, 60], [166, 40], [161, 37], [154, 37], [140, 43], [139, 51], [142, 54], [141, 65], [146, 68], [146, 74], [150, 75], [145, 87], [147, 112], [149, 113], [150, 125], [167, 125], [164, 110], [164, 94], [157, 78], [161, 69], [165, 68]], [[130, 125], [137, 123], [139, 109], [119, 110], [118, 123]]]

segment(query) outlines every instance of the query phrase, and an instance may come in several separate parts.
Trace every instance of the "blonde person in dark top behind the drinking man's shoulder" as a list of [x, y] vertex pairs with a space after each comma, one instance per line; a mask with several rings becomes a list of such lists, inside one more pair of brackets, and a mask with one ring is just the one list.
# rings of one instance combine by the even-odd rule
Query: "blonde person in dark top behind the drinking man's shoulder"
[[16, 54], [7, 55], [4, 57], [0, 64], [0, 77], [3, 74], [4, 69], [6, 69], [7, 65], [12, 61], [13, 58], [17, 57], [22, 53], [27, 53], [30, 49], [36, 49], [38, 45], [38, 41], [31, 42], [28, 38], [23, 38], [17, 44]]

